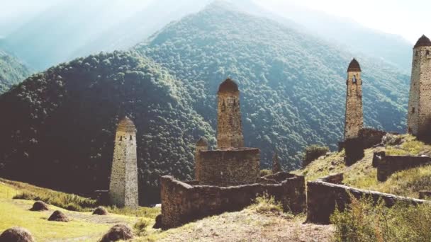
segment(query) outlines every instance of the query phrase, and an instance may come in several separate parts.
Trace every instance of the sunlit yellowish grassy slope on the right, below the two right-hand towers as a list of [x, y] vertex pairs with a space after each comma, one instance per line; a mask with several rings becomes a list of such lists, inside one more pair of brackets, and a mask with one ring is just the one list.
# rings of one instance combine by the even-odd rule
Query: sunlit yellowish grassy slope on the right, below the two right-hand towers
[[371, 165], [374, 151], [386, 151], [388, 155], [431, 155], [430, 144], [424, 144], [410, 135], [399, 138], [403, 140], [401, 144], [366, 149], [364, 158], [352, 166], [345, 166], [342, 151], [322, 156], [295, 173], [306, 175], [306, 180], [315, 180], [330, 173], [344, 173], [344, 183], [354, 188], [417, 198], [420, 190], [431, 190], [431, 166], [398, 171], [385, 182], [379, 182], [377, 169]]

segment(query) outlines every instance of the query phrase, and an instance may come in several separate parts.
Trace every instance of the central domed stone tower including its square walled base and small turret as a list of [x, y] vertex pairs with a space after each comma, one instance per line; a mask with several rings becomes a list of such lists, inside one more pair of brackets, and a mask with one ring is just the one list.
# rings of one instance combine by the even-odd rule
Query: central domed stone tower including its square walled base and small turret
[[208, 150], [201, 139], [196, 143], [195, 176], [200, 185], [232, 186], [256, 183], [260, 151], [244, 147], [240, 112], [240, 91], [227, 79], [218, 89], [218, 149]]

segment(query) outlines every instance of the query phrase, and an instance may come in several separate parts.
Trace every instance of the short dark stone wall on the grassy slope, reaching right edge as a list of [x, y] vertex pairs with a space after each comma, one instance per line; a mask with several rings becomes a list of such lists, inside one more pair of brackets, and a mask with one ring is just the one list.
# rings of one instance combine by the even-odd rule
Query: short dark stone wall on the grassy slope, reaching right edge
[[[403, 171], [425, 164], [431, 164], [429, 156], [386, 156], [384, 152], [375, 154], [377, 163], [377, 180], [385, 181], [396, 171]], [[374, 161], [374, 159], [373, 159]]]

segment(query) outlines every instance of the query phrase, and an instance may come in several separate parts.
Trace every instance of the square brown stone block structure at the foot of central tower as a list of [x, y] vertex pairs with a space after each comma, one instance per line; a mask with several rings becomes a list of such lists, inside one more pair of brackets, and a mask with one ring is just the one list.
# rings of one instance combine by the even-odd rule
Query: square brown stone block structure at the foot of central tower
[[260, 173], [260, 151], [255, 148], [199, 151], [201, 185], [244, 185], [255, 183]]

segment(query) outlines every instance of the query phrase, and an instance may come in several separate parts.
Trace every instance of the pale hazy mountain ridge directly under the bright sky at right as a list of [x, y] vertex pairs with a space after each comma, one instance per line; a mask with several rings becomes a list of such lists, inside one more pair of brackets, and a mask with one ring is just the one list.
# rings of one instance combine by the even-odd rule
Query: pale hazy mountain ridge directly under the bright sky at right
[[[241, 3], [242, 9], [247, 10], [247, 6], [254, 2], [253, 0], [241, 0], [238, 4]], [[259, 5], [259, 2], [256, 4]], [[289, 19], [301, 26], [298, 28], [299, 30], [337, 43], [350, 52], [382, 59], [410, 74], [413, 44], [400, 35], [366, 28], [348, 18], [338, 18], [323, 11], [286, 2], [283, 2], [278, 8], [270, 8], [267, 11], [273, 13], [272, 15], [267, 14], [268, 18], [281, 23], [284, 22], [283, 19]], [[289, 25], [289, 27], [292, 26]]]

